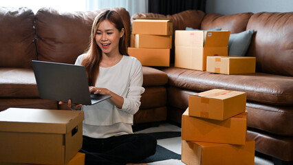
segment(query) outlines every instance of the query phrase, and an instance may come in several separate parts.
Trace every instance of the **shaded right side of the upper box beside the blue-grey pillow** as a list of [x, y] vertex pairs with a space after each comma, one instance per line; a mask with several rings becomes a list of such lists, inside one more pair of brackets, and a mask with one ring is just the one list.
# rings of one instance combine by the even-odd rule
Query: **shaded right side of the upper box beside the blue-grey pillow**
[[228, 47], [230, 31], [206, 31], [204, 36], [204, 47]]

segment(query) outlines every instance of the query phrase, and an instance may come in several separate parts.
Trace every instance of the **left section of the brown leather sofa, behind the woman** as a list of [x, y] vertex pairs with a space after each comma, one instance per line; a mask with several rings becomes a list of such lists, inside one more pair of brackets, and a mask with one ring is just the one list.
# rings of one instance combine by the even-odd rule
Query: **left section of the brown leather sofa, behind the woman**
[[[130, 39], [130, 16], [120, 13]], [[28, 8], [0, 8], [0, 111], [9, 107], [67, 109], [56, 101], [39, 97], [32, 60], [74, 63], [89, 43], [95, 12], [58, 12], [43, 8], [36, 14]], [[166, 73], [143, 67], [145, 88], [134, 122], [166, 120]]]

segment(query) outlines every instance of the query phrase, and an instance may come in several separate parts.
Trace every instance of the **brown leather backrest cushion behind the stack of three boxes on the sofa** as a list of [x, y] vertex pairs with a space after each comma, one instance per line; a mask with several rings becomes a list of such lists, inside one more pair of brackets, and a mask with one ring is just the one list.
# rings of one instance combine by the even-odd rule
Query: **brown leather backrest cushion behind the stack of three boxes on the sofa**
[[173, 36], [172, 36], [172, 49], [170, 61], [174, 63], [175, 60], [175, 30], [185, 30], [186, 27], [199, 29], [200, 23], [204, 18], [205, 13], [201, 10], [186, 10], [184, 12], [179, 12], [173, 15], [163, 15], [163, 14], [155, 14], [155, 13], [135, 13], [131, 16], [131, 25], [133, 20], [135, 19], [170, 19], [173, 23]]

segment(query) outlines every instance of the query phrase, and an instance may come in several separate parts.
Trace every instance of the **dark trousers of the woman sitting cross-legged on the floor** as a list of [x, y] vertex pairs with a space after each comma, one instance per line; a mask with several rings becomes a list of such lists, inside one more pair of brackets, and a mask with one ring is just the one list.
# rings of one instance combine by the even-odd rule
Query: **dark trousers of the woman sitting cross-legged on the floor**
[[86, 165], [127, 164], [155, 154], [157, 140], [144, 133], [96, 139], [83, 136]]

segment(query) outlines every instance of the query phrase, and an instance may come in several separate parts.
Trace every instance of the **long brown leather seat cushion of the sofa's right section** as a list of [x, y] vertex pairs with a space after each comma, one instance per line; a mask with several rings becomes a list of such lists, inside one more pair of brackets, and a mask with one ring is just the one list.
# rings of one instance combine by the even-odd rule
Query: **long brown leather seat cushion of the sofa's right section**
[[244, 91], [247, 100], [272, 105], [293, 105], [293, 77], [273, 74], [224, 75], [191, 69], [163, 69], [169, 85], [193, 91], [227, 89]]

